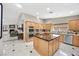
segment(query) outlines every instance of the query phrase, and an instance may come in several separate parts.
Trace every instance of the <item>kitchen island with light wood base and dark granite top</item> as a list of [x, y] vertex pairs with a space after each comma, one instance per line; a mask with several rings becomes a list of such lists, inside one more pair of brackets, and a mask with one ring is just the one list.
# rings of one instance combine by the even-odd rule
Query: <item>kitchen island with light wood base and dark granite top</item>
[[59, 48], [59, 35], [36, 34], [33, 37], [34, 49], [42, 56], [52, 56]]

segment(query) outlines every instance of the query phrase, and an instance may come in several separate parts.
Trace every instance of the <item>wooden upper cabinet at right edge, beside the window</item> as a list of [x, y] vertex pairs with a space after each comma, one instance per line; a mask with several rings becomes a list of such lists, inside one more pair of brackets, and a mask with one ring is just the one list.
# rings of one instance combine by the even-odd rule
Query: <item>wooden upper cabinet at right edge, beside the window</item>
[[79, 31], [79, 19], [69, 21], [69, 29], [72, 31]]

